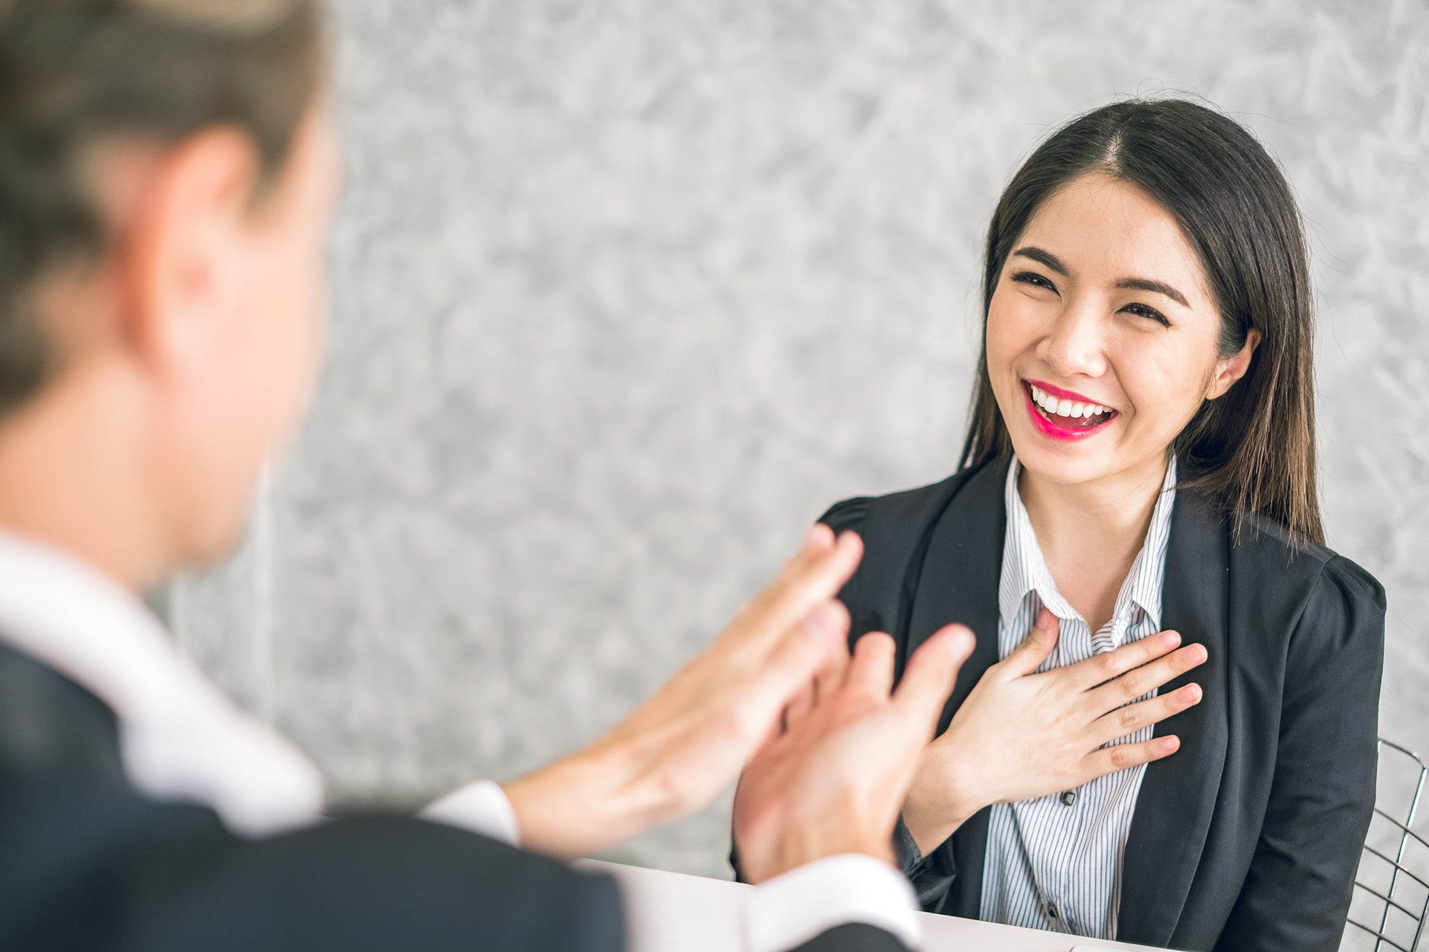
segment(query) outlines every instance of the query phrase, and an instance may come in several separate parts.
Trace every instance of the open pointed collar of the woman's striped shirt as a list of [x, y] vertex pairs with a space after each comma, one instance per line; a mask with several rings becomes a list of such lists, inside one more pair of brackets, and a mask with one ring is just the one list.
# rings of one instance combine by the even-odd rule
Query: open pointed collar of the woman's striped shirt
[[[1036, 592], [1037, 598], [1057, 618], [1075, 618], [1077, 615], [1062, 593], [1052, 572], [1047, 569], [1037, 543], [1037, 533], [1032, 527], [1032, 517], [1022, 503], [1022, 493], [1017, 492], [1017, 476], [1022, 463], [1016, 456], [1007, 467], [1007, 483], [1003, 490], [1003, 502], [1007, 509], [1007, 535], [1005, 540], [1002, 580], [997, 590], [997, 612], [1002, 626], [1009, 628], [1022, 609], [1029, 592]], [[1156, 506], [1152, 509], [1152, 519], [1146, 529], [1146, 540], [1142, 543], [1132, 570], [1126, 573], [1116, 595], [1116, 615], [1122, 615], [1133, 605], [1140, 608], [1150, 618], [1155, 628], [1160, 628], [1162, 587], [1166, 569], [1166, 543], [1170, 535], [1170, 513], [1176, 500], [1176, 457], [1166, 463], [1166, 476], [1156, 496]]]

